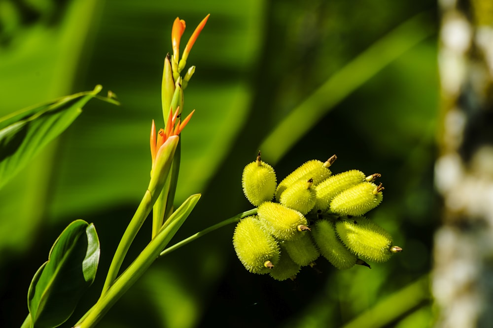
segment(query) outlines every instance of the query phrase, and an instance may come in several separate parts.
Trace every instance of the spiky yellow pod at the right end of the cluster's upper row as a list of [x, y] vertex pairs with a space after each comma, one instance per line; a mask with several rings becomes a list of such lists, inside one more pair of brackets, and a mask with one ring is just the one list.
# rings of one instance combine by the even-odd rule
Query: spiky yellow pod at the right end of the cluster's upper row
[[344, 190], [330, 202], [330, 210], [340, 215], [360, 216], [376, 208], [383, 199], [382, 183], [361, 182]]

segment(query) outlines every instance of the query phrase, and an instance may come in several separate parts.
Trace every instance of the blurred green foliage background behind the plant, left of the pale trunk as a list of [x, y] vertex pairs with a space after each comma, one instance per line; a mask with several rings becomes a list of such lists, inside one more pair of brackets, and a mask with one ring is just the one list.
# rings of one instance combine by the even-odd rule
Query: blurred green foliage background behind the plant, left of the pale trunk
[[[282, 179], [337, 154], [335, 173], [382, 174], [369, 217], [404, 252], [372, 269], [323, 258], [293, 281], [248, 273], [227, 226], [159, 259], [98, 327], [428, 327], [427, 275], [438, 222], [432, 170], [438, 118], [436, 3], [430, 0], [0, 0], [0, 116], [102, 84], [98, 100], [0, 190], [0, 327], [19, 327], [35, 270], [74, 219], [111, 254], [147, 186], [151, 119], [161, 118], [171, 27], [184, 40], [208, 13], [188, 64], [176, 203], [202, 193], [172, 243], [250, 209], [243, 167], [258, 150]], [[185, 41], [182, 42], [182, 47]], [[150, 238], [150, 220], [130, 250]]]

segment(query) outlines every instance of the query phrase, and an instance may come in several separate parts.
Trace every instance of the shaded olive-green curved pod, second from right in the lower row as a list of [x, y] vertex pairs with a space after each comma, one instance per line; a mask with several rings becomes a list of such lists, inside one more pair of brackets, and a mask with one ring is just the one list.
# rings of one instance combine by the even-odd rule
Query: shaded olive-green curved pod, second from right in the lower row
[[356, 263], [356, 256], [337, 238], [332, 222], [321, 219], [314, 223], [312, 237], [320, 254], [334, 267], [349, 269]]

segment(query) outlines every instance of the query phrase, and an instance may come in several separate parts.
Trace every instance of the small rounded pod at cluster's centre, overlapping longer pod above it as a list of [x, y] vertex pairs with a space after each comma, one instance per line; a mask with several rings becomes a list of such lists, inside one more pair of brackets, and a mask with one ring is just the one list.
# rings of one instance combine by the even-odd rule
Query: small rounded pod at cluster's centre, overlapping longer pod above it
[[291, 209], [296, 209], [301, 214], [313, 209], [317, 194], [313, 186], [313, 179], [308, 181], [298, 180], [284, 190], [280, 203]]

